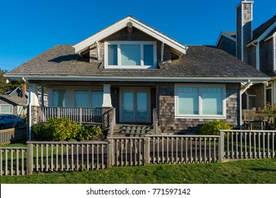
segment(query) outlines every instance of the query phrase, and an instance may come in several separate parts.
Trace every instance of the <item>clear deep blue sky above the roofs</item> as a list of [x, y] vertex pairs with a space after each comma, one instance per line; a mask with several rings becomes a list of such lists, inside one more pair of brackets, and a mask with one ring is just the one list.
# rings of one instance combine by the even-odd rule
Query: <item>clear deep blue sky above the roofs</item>
[[[240, 1], [2, 1], [0, 68], [11, 70], [54, 45], [74, 45], [130, 15], [185, 45], [215, 45], [222, 30], [235, 30]], [[275, 14], [275, 0], [255, 0], [253, 28]]]

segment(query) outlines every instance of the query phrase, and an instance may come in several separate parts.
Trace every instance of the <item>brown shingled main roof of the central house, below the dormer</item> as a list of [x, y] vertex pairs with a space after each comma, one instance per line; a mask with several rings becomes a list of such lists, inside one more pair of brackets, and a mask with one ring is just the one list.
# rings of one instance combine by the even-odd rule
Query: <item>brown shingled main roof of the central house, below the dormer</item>
[[184, 57], [160, 69], [101, 69], [71, 45], [57, 45], [5, 74], [7, 78], [60, 81], [262, 82], [268, 76], [212, 46], [189, 45]]

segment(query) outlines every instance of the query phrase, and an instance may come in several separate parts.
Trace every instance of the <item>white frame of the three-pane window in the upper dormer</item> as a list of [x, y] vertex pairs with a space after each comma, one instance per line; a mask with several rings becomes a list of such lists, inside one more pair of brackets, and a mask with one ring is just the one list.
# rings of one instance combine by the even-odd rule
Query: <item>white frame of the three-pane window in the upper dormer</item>
[[[108, 45], [117, 45], [117, 65], [108, 65]], [[140, 45], [140, 65], [137, 65], [137, 66], [122, 65], [120, 45]], [[144, 45], [154, 46], [154, 65], [144, 65]], [[157, 68], [156, 41], [106, 41], [105, 42], [105, 68], [106, 69], [156, 69]]]

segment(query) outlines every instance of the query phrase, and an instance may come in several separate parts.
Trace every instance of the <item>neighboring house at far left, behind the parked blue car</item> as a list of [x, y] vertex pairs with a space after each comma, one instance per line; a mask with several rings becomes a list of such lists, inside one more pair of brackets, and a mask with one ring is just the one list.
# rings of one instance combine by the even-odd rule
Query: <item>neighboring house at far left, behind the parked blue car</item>
[[[27, 113], [28, 95], [25, 85], [0, 95], [0, 114], [25, 115]], [[38, 98], [41, 101], [40, 92], [38, 92]], [[39, 104], [41, 105], [41, 103]], [[44, 94], [44, 105], [47, 106], [47, 93]]]

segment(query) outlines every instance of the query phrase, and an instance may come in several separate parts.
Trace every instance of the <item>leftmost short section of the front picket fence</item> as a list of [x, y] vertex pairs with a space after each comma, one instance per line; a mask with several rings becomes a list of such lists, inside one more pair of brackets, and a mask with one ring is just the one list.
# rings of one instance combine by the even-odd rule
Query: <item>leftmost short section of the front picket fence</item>
[[0, 175], [27, 175], [27, 151], [24, 147], [0, 147]]

